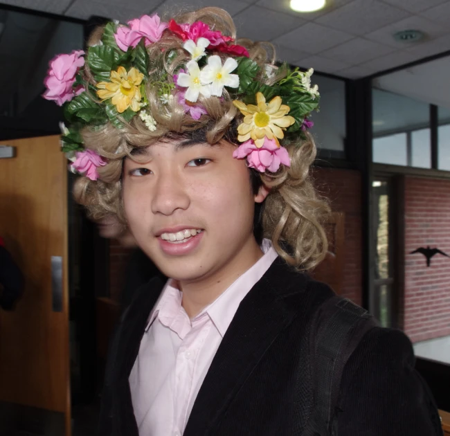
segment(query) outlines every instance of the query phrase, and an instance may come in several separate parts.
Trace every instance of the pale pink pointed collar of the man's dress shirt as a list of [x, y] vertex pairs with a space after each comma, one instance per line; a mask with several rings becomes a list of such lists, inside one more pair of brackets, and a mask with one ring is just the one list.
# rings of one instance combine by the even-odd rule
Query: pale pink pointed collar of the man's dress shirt
[[[255, 286], [260, 278], [262, 278], [273, 261], [278, 257], [278, 253], [275, 248], [273, 248], [269, 239], [262, 240], [261, 249], [264, 255], [260, 260], [237, 278], [228, 289], [226, 289], [210, 305], [205, 307], [194, 319], [207, 313], [219, 331], [219, 334], [222, 337], [225, 335], [228, 326], [231, 324], [231, 320], [233, 320], [236, 314], [240, 302], [244, 300], [247, 293], [249, 293], [253, 286]], [[181, 300], [182, 293], [177, 288], [177, 284], [174, 280], [169, 279], [150, 314], [145, 331], [150, 329], [150, 326], [158, 316], [165, 320], [165, 325], [170, 325], [170, 320], [175, 321], [179, 316]]]

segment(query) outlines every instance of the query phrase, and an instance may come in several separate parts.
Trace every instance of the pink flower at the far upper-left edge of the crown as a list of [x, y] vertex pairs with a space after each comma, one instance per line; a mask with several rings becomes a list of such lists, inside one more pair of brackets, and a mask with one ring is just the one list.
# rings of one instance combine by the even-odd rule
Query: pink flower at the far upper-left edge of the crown
[[70, 55], [57, 55], [51, 60], [48, 76], [44, 79], [47, 90], [42, 97], [62, 106], [84, 91], [82, 86], [73, 88], [75, 75], [84, 65], [83, 55], [84, 51], [75, 50]]

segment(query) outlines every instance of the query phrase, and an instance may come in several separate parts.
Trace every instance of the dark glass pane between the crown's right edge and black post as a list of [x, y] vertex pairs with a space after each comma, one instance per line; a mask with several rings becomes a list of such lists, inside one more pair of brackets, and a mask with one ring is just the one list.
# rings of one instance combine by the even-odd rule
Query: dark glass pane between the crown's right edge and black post
[[312, 82], [318, 84], [321, 100], [327, 102], [319, 112], [312, 114], [314, 127], [311, 133], [318, 149], [344, 151], [345, 141], [345, 82], [343, 80], [313, 75]]

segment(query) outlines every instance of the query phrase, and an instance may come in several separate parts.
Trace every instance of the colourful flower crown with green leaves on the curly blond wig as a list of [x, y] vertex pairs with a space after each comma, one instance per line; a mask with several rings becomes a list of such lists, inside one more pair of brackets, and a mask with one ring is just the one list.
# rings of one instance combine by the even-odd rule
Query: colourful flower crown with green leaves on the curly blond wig
[[[148, 51], [163, 33], [181, 39], [190, 56], [173, 75], [161, 72], [161, 66], [155, 68]], [[237, 127], [241, 145], [233, 156], [246, 158], [249, 167], [260, 172], [276, 172], [280, 164], [289, 166], [289, 154], [280, 141], [290, 143], [313, 125], [308, 117], [319, 100], [317, 85], [311, 86], [313, 70], [303, 72], [283, 64], [282, 74], [277, 73], [282, 79], [269, 85], [276, 68], [260, 66], [244, 46], [234, 43], [202, 21], [177, 24], [171, 19], [163, 23], [158, 15], [143, 15], [128, 21], [127, 26], [108, 23], [100, 44], [90, 46], [87, 53], [57, 55], [44, 80], [43, 97], [64, 109], [67, 127], [62, 126], [62, 151], [72, 162], [71, 170], [97, 180], [97, 168], [107, 163], [84, 147], [80, 131], [86, 125], [111, 122], [121, 129], [124, 122], [139, 116], [150, 131], [156, 130], [146, 87], [156, 89], [162, 105], [176, 99], [193, 120], [208, 115], [199, 102], [200, 95], [222, 98], [226, 89], [242, 118]], [[177, 49], [168, 49], [165, 55], [171, 62]]]

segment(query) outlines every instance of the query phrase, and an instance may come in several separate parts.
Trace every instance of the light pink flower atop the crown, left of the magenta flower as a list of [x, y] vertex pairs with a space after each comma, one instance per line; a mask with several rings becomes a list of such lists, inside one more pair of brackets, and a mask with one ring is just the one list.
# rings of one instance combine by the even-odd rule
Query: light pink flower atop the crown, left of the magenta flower
[[158, 15], [143, 15], [141, 18], [128, 21], [128, 27], [120, 26], [114, 34], [120, 50], [127, 51], [129, 46], [136, 47], [142, 38], [145, 38], [145, 46], [158, 42], [163, 31], [168, 28], [167, 23], [161, 23]]

